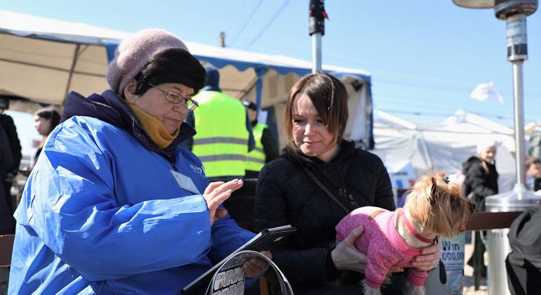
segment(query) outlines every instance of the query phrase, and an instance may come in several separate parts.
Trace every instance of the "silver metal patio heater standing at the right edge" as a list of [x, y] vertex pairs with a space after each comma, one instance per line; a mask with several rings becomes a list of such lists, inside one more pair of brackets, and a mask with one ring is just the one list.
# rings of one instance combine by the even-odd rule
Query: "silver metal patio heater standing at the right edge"
[[[524, 171], [524, 117], [522, 64], [528, 59], [526, 17], [537, 10], [537, 0], [452, 0], [466, 8], [494, 8], [497, 19], [507, 22], [507, 60], [513, 65], [513, 96], [516, 150], [516, 184], [511, 192], [485, 199], [487, 211], [523, 211], [539, 207], [541, 197], [526, 190]], [[488, 232], [488, 293], [510, 294], [505, 258], [509, 254], [509, 229]]]

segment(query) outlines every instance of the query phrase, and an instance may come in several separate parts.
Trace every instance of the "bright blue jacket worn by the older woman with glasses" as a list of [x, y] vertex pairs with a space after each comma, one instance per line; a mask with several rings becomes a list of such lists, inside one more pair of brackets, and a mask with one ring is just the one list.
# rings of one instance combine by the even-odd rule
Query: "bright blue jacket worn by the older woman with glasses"
[[57, 126], [28, 178], [9, 294], [178, 294], [253, 237], [229, 216], [210, 226], [195, 155], [156, 152], [111, 91], [70, 93], [65, 112], [88, 103], [95, 117]]

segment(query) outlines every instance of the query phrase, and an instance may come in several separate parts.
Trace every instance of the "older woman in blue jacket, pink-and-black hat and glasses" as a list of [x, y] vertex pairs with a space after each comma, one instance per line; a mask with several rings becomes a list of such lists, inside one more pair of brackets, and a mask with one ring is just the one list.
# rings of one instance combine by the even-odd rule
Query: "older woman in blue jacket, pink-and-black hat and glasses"
[[183, 41], [148, 29], [117, 48], [110, 90], [67, 96], [15, 212], [10, 294], [178, 294], [254, 236], [220, 206], [242, 181], [209, 183], [178, 147], [204, 79]]

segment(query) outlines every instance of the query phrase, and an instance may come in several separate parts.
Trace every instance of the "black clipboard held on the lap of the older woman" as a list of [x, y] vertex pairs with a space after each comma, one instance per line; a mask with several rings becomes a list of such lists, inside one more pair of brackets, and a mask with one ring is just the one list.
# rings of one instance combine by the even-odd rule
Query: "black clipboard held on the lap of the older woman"
[[279, 244], [284, 237], [292, 234], [292, 232], [295, 230], [296, 228], [294, 228], [292, 225], [283, 225], [278, 226], [277, 228], [267, 228], [262, 230], [259, 232], [259, 234], [252, 237], [252, 239], [250, 239], [248, 242], [233, 251], [233, 253], [229, 254], [226, 258], [223, 258], [222, 261], [216, 263], [216, 265], [207, 270], [207, 272], [197, 277], [197, 279], [193, 280], [193, 282], [190, 282], [188, 286], [182, 289], [181, 294], [197, 294], [195, 292], [198, 291], [200, 287], [206, 288], [211, 281], [212, 276], [214, 273], [216, 273], [216, 270], [218, 270], [223, 263], [226, 263], [226, 261], [235, 256], [235, 254], [238, 252], [245, 250], [252, 250], [256, 252], [271, 250], [273, 247]]

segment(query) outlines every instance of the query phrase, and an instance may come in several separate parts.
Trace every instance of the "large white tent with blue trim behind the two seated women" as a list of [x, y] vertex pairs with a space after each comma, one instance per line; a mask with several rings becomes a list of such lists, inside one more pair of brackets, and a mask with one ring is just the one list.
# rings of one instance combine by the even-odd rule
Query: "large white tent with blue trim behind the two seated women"
[[[130, 35], [0, 10], [0, 96], [62, 105], [69, 91], [83, 95], [103, 91], [108, 88], [107, 60], [112, 59], [119, 41]], [[285, 146], [281, 130], [287, 92], [299, 77], [311, 72], [311, 63], [281, 55], [186, 44], [202, 63], [219, 67], [224, 92], [253, 100], [268, 110], [268, 123], [278, 130], [280, 147]], [[348, 89], [346, 138], [370, 143], [370, 74], [327, 65], [323, 70], [339, 77]]]

